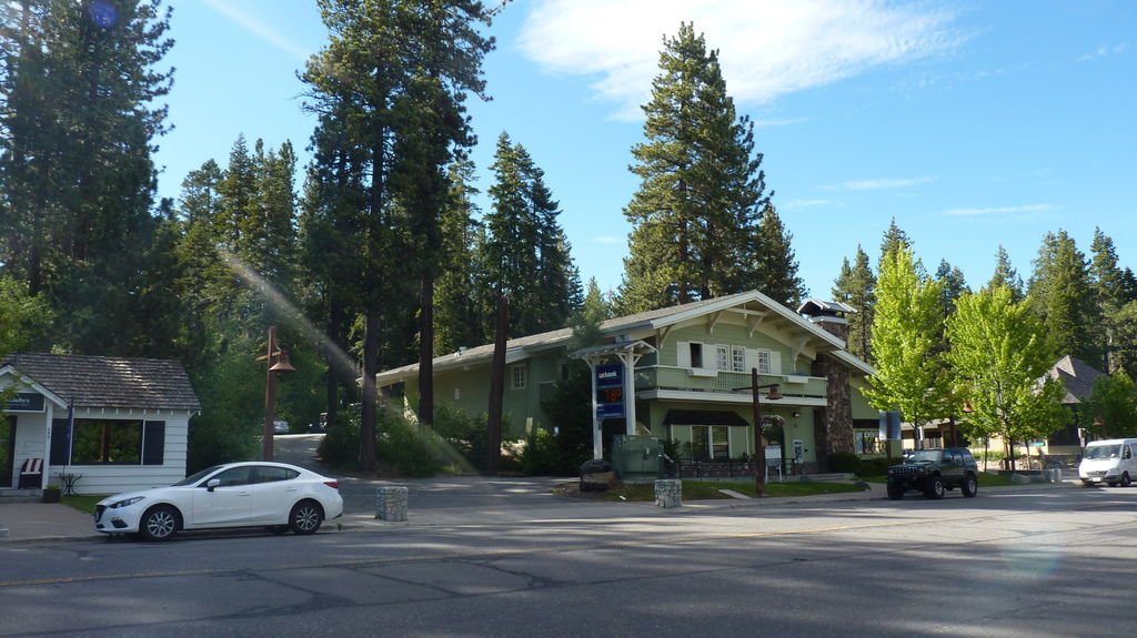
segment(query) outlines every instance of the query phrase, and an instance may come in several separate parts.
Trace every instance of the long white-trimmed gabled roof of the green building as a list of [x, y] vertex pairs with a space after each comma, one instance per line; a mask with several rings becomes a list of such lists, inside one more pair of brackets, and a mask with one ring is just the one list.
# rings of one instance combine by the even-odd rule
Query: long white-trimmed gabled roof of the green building
[[[716, 312], [725, 312], [731, 309], [742, 311], [748, 308], [755, 309], [748, 310], [749, 312], [771, 317], [777, 321], [790, 325], [795, 329], [815, 338], [824, 344], [825, 347], [823, 350], [825, 351], [843, 352], [845, 349], [845, 342], [841, 339], [819, 328], [792, 310], [757, 291], [748, 291], [733, 295], [684, 303], [682, 305], [648, 310], [646, 312], [638, 312], [625, 317], [616, 317], [600, 324], [600, 331], [606, 337], [614, 337], [616, 335], [638, 329], [658, 330], [697, 317], [714, 314]], [[761, 312], [758, 309], [761, 309]], [[551, 330], [538, 335], [508, 339], [506, 342], [506, 363], [521, 361], [522, 359], [531, 356], [538, 352], [563, 346], [570, 338], [572, 338], [572, 329], [562, 328], [559, 330]], [[459, 369], [466, 366], [480, 364], [491, 360], [492, 356], [493, 344], [459, 350], [458, 352], [435, 356], [434, 371], [441, 372], [446, 370]], [[841, 359], [861, 369], [866, 375], [873, 373], [873, 369], [868, 363], [864, 363], [853, 355]], [[380, 387], [382, 387], [405, 380], [414, 375], [417, 375], [417, 372], [418, 363], [410, 363], [408, 366], [379, 372], [375, 376], [375, 381]]]

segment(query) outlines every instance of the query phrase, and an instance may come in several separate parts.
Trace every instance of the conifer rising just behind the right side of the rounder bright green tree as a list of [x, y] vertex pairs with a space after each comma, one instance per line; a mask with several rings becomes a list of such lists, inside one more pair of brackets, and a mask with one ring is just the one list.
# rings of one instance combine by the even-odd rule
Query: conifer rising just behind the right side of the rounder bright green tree
[[1072, 354], [1101, 368], [1102, 313], [1089, 265], [1065, 230], [1047, 233], [1043, 238], [1027, 289], [1031, 311], [1046, 330], [1052, 355]]

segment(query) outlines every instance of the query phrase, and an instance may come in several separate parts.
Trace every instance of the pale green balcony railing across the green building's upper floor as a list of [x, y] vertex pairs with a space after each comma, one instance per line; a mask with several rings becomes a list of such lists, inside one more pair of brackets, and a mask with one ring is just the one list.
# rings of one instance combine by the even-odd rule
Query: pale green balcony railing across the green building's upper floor
[[[827, 380], [822, 377], [794, 378], [804, 381], [787, 381], [785, 375], [758, 375], [758, 385], [779, 384], [783, 396], [824, 398]], [[645, 366], [636, 369], [636, 389], [738, 393], [750, 387], [749, 372], [727, 370], [699, 370], [674, 366]]]

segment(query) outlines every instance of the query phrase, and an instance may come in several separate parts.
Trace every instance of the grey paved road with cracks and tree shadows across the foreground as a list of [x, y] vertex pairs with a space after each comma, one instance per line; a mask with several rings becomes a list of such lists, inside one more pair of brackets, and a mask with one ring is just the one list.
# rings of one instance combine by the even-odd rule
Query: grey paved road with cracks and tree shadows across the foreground
[[1137, 488], [0, 547], [0, 635], [1130, 635]]

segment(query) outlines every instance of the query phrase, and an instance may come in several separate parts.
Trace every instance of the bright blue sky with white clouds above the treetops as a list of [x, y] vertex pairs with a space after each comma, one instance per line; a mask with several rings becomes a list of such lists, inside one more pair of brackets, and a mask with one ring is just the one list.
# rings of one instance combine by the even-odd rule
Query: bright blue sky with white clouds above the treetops
[[[894, 217], [929, 270], [947, 259], [973, 287], [999, 244], [1029, 277], [1059, 229], [1088, 253], [1101, 227], [1137, 269], [1137, 2], [516, 0], [491, 28], [492, 101], [471, 103], [478, 186], [508, 132], [545, 170], [586, 282], [620, 285], [639, 104], [680, 20], [720, 50], [757, 124], [813, 295], [858, 243], [875, 263]], [[207, 159], [224, 167], [241, 133], [307, 161], [296, 72], [326, 40], [315, 2], [184, 0], [172, 25], [160, 194]]]

